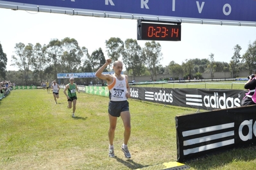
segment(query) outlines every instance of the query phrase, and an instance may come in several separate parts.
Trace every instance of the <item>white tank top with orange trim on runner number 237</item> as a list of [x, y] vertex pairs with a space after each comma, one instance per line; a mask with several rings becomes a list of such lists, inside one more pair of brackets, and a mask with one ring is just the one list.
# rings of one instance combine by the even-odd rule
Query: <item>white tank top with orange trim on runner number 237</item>
[[126, 78], [122, 75], [123, 81], [119, 81], [117, 77], [114, 77], [112, 84], [108, 85], [109, 98], [111, 101], [125, 101], [126, 98]]

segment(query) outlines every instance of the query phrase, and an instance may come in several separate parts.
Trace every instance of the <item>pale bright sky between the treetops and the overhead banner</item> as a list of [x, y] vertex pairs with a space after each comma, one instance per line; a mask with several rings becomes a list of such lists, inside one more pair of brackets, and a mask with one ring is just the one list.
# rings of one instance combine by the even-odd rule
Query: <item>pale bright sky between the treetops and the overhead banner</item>
[[[17, 70], [10, 66], [16, 43], [48, 44], [51, 39], [74, 38], [80, 47], [87, 47], [89, 54], [101, 47], [108, 58], [105, 41], [111, 37], [137, 40], [137, 20], [109, 19], [99, 17], [72, 16], [56, 13], [26, 12], [0, 8], [0, 43], [7, 54], [7, 70]], [[220, 26], [209, 24], [182, 23], [181, 42], [162, 42], [163, 66], [170, 61], [182, 64], [185, 59], [209, 59], [214, 54], [215, 61], [229, 63], [235, 45], [242, 47], [241, 55], [249, 43], [256, 40], [256, 27]], [[147, 41], [138, 40], [144, 47]]]

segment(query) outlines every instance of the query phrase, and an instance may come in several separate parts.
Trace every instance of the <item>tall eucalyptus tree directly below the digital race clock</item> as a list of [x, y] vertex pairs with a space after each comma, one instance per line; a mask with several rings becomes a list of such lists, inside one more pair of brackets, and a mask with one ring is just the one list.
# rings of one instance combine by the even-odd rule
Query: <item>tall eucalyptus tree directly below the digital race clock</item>
[[146, 42], [142, 49], [143, 61], [148, 68], [151, 79], [157, 76], [157, 68], [162, 59], [161, 45], [155, 41]]

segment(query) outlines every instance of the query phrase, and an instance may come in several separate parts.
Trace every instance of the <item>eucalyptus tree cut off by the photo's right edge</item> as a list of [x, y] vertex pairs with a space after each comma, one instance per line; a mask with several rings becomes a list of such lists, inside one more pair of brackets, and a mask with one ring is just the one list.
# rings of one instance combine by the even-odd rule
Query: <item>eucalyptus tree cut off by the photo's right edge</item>
[[256, 69], [256, 40], [248, 45], [242, 58], [242, 62], [248, 69], [248, 74], [251, 74]]

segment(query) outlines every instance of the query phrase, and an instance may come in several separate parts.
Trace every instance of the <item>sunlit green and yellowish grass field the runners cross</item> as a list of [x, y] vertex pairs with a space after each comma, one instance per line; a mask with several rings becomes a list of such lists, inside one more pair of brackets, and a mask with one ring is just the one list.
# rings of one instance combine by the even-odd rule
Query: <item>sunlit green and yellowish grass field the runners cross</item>
[[[76, 118], [60, 91], [58, 104], [43, 89], [13, 90], [0, 100], [0, 169], [138, 169], [176, 161], [175, 116], [196, 109], [129, 100], [132, 158], [120, 150], [123, 122], [115, 132], [116, 158], [108, 157], [108, 98], [78, 94]], [[240, 148], [184, 162], [190, 169], [255, 169], [256, 148]]]

